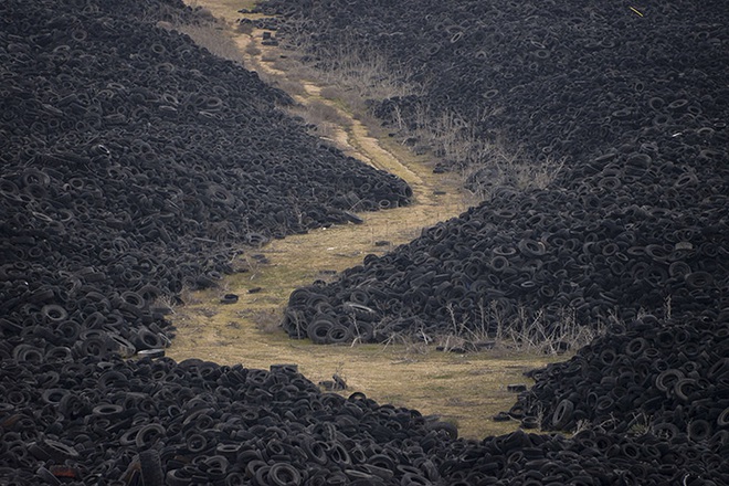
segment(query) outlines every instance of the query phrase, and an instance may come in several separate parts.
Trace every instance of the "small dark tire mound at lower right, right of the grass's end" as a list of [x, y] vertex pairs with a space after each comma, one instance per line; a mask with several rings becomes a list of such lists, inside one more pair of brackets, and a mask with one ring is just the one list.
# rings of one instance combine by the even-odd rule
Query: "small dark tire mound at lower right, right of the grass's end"
[[729, 315], [658, 320], [644, 316], [581, 348], [566, 362], [529, 373], [537, 383], [511, 409], [543, 430], [591, 424], [666, 442], [729, 447]]

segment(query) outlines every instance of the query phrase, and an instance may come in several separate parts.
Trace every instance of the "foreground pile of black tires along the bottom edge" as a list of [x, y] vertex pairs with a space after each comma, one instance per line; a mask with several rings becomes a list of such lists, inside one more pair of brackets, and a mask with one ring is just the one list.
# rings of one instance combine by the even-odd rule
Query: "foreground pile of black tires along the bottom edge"
[[416, 411], [323, 393], [290, 364], [25, 355], [0, 362], [0, 479], [19, 486], [729, 480], [726, 443], [594, 431], [456, 440]]

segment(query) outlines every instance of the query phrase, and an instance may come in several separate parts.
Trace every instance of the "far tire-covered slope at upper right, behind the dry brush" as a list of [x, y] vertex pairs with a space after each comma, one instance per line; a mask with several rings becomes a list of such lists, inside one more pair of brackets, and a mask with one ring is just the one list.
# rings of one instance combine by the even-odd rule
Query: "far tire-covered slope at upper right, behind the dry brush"
[[376, 101], [379, 116], [397, 113], [415, 126], [418, 109], [450, 112], [464, 129], [505, 137], [533, 158], [568, 157], [570, 167], [635, 140], [634, 130], [673, 135], [694, 123], [725, 124], [721, 80], [729, 67], [717, 62], [729, 42], [725, 7], [720, 0], [260, 6], [286, 20], [277, 39], [310, 50], [314, 62], [366, 49], [422, 86], [421, 94]]

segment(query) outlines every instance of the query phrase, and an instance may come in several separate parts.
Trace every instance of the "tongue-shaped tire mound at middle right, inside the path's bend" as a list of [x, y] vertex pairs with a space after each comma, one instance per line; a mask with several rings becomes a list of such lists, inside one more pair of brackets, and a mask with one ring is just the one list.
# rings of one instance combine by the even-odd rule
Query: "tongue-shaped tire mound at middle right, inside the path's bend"
[[725, 202], [685, 210], [621, 192], [501, 196], [328, 285], [295, 290], [284, 329], [339, 342], [539, 324], [546, 337], [566, 321], [604, 327], [667, 306], [677, 315], [726, 308]]

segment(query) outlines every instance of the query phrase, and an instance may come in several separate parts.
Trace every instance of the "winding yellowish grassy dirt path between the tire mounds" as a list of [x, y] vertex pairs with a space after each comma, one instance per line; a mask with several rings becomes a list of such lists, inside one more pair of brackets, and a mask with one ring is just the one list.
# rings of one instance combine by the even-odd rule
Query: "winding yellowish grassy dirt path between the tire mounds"
[[[241, 17], [237, 10], [246, 7], [231, 0], [202, 0], [198, 4], [219, 19], [228, 19], [231, 25]], [[262, 31], [234, 34], [231, 30], [231, 35], [249, 70], [290, 86], [290, 76], [274, 66], [282, 52], [261, 45]], [[297, 363], [315, 382], [331, 379], [336, 372], [351, 388], [345, 393], [362, 391], [382, 403], [440, 414], [456, 422], [469, 437], [514, 430], [515, 423], [495, 423], [489, 416], [513, 403], [506, 384], [524, 382], [521, 372], [542, 366], [547, 358], [443, 353], [413, 344], [315, 346], [308, 340], [290, 340], [277, 327], [295, 288], [334, 278], [336, 273], [361, 264], [364, 255], [383, 254], [466, 208], [457, 181], [434, 175], [424, 157], [414, 156], [380, 133], [377, 124], [366, 124], [321, 93], [323, 86], [305, 80], [292, 94], [302, 105], [326, 105], [336, 110], [335, 118], [341, 123], [327, 127], [327, 139], [347, 155], [408, 181], [414, 203], [361, 213], [364, 223], [360, 225], [287, 236], [246, 253], [241, 262], [245, 272], [226, 278], [221, 288], [184, 296], [187, 305], [177, 307], [171, 316], [178, 334], [167, 355], [176, 360], [200, 358], [264, 369], [273, 363]], [[239, 295], [239, 302], [221, 305], [221, 297], [229, 293]]]

